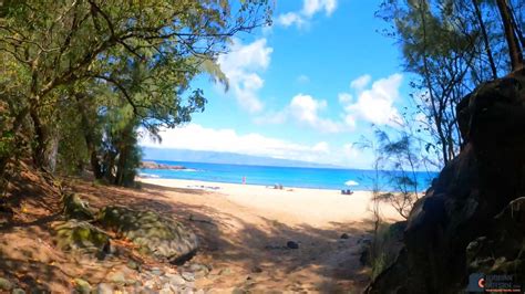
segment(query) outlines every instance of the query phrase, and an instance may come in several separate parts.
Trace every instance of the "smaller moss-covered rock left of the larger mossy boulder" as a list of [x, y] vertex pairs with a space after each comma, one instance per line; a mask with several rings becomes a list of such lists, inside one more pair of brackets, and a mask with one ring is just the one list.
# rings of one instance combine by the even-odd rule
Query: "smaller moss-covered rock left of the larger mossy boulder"
[[110, 249], [110, 237], [86, 221], [69, 220], [53, 225], [58, 246], [62, 250], [102, 252]]

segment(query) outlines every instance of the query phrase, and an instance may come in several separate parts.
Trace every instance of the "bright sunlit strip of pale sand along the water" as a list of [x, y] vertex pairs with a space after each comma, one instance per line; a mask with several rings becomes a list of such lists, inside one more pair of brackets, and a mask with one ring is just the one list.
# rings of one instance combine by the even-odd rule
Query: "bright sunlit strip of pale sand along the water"
[[[256, 185], [208, 182], [178, 179], [150, 179], [140, 181], [173, 188], [203, 189], [213, 191], [229, 201], [246, 207], [267, 219], [289, 224], [308, 223], [323, 227], [330, 222], [370, 220], [370, 191], [341, 195], [340, 190], [305, 189], [284, 187], [282, 190]], [[218, 189], [210, 189], [218, 187]], [[397, 212], [383, 204], [381, 212], [387, 219], [399, 219]]]

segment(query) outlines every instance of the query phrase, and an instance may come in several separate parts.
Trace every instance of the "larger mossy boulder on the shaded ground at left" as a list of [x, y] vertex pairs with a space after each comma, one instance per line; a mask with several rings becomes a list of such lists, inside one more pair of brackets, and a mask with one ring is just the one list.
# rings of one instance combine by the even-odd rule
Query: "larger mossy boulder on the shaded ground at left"
[[192, 230], [154, 211], [106, 207], [100, 211], [97, 222], [138, 245], [142, 252], [161, 260], [184, 262], [198, 248], [197, 237]]

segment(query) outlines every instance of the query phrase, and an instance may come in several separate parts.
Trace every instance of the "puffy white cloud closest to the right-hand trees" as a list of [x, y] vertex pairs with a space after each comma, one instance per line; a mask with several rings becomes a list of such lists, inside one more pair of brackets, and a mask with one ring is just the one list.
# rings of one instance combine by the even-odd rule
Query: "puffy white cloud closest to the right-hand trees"
[[371, 80], [368, 75], [354, 80], [351, 84], [358, 91], [358, 98], [356, 103], [346, 104], [346, 120], [356, 122], [357, 118], [362, 118], [377, 125], [401, 124], [402, 119], [394, 102], [400, 97], [399, 88], [402, 78], [403, 76], [399, 73], [392, 74], [373, 82], [370, 88], [364, 88]]

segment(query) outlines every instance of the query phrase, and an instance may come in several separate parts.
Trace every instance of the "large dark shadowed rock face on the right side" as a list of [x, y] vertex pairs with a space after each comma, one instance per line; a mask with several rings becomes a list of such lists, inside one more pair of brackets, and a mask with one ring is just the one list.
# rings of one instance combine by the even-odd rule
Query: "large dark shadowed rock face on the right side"
[[368, 293], [459, 293], [480, 272], [525, 281], [525, 77], [481, 85], [457, 117], [460, 156], [415, 203], [404, 248]]

